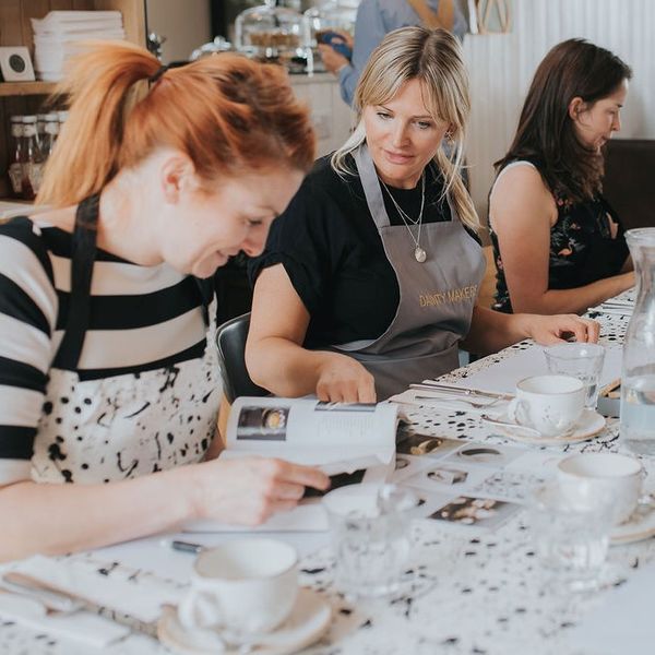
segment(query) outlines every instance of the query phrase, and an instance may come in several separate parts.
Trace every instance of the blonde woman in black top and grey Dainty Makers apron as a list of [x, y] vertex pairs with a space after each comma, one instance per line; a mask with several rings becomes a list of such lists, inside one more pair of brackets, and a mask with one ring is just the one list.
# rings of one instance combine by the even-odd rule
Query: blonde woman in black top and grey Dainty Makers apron
[[357, 129], [317, 163], [251, 264], [246, 358], [258, 384], [372, 402], [451, 371], [460, 345], [491, 353], [525, 337], [597, 338], [597, 324], [577, 317], [475, 305], [485, 259], [458, 171], [469, 98], [454, 36], [389, 34], [356, 106]]

